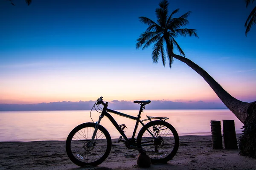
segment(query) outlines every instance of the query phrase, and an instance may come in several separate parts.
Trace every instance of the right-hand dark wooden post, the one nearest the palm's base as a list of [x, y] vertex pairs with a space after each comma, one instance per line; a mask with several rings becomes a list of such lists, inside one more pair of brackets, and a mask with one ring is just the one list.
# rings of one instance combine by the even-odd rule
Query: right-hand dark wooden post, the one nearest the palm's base
[[223, 138], [225, 149], [237, 149], [236, 130], [234, 120], [223, 121]]

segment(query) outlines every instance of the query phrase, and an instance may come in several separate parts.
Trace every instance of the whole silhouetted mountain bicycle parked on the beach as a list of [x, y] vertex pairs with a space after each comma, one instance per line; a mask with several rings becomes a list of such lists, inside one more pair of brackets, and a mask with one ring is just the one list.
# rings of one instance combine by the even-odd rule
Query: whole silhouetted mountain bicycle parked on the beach
[[[179, 147], [179, 136], [175, 128], [165, 122], [169, 118], [147, 116], [148, 119], [140, 120], [140, 115], [145, 109], [145, 105], [151, 102], [150, 100], [134, 101], [134, 103], [140, 104], [140, 111], [135, 117], [107, 108], [108, 102], [104, 103], [102, 98], [97, 99], [93, 105], [94, 108], [97, 106], [102, 111], [98, 122], [87, 122], [78, 125], [67, 137], [66, 152], [73, 163], [81, 167], [85, 165], [97, 166], [107, 159], [111, 152], [112, 140], [108, 130], [100, 125], [104, 116], [108, 117], [121, 134], [118, 142], [124, 142], [126, 147], [138, 150], [139, 153], [147, 153], [151, 158], [151, 163], [165, 163], [175, 156]], [[103, 109], [99, 107], [100, 104], [104, 106]], [[136, 120], [131, 138], [128, 139], [125, 135], [126, 126], [124, 124], [118, 125], [110, 113]], [[152, 121], [152, 119], [158, 120]], [[149, 122], [144, 124], [145, 121]], [[139, 123], [143, 127], [136, 139], [135, 133]]]

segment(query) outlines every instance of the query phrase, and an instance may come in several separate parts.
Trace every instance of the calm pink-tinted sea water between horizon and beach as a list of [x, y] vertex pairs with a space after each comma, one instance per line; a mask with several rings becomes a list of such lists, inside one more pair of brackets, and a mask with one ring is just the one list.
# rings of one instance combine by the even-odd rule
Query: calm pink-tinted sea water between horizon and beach
[[[137, 110], [119, 110], [132, 116], [137, 116]], [[98, 121], [100, 113], [93, 111], [94, 122]], [[125, 134], [131, 137], [135, 121], [111, 114], [116, 122], [125, 124]], [[236, 133], [241, 133], [243, 124], [227, 109], [218, 110], [144, 110], [141, 119], [147, 116], [169, 117], [166, 120], [172, 124], [180, 136], [210, 135], [211, 120], [230, 119], [235, 121]], [[0, 142], [3, 141], [41, 141], [66, 140], [70, 131], [84, 122], [92, 122], [90, 111], [2, 111], [0, 112]], [[107, 117], [102, 119], [103, 125], [112, 139], [120, 135]], [[140, 130], [140, 126], [139, 129]], [[137, 133], [138, 133], [137, 130]]]

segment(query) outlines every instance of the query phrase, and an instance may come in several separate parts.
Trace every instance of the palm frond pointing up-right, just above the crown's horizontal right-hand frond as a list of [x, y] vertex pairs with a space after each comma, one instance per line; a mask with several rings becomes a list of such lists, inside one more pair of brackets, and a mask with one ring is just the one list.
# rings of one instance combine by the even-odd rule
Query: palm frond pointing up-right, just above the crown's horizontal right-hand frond
[[183, 14], [178, 18], [172, 18], [171, 21], [168, 23], [168, 28], [178, 29], [188, 25], [189, 20], [187, 20], [187, 17], [189, 17], [190, 14], [191, 11], [188, 11], [187, 13]]

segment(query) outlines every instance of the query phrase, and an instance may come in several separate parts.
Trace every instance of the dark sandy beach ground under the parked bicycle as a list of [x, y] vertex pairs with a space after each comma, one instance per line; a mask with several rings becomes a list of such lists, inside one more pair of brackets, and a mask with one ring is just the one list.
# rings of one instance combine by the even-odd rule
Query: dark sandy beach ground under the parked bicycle
[[112, 145], [108, 158], [94, 168], [73, 164], [67, 157], [65, 141], [0, 142], [0, 170], [256, 170], [256, 159], [240, 156], [238, 149], [212, 149], [211, 136], [180, 136], [173, 159], [149, 168], [137, 166], [137, 150], [126, 148], [117, 139]]

